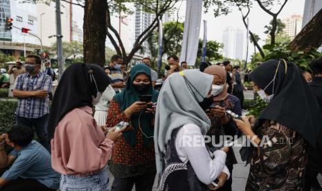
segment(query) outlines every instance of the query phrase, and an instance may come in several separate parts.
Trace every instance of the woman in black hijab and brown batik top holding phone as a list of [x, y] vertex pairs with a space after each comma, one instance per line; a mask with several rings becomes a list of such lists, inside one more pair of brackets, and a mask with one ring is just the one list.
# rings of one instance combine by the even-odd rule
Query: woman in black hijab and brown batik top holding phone
[[316, 144], [321, 112], [310, 88], [292, 62], [269, 60], [249, 77], [268, 106], [254, 128], [236, 124], [255, 144], [246, 190], [303, 190], [307, 143]]

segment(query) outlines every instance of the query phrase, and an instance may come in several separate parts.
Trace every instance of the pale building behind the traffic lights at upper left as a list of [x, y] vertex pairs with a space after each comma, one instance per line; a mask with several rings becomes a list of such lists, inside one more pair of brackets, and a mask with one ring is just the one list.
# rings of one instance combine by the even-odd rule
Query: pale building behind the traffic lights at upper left
[[[63, 41], [71, 42], [71, 3], [62, 2]], [[56, 42], [55, 3], [21, 3], [0, 1], [0, 51], [20, 57], [35, 49], [48, 48]], [[5, 30], [6, 17], [13, 19], [12, 29]], [[28, 28], [28, 34], [21, 28]], [[41, 43], [42, 42], [42, 43]]]

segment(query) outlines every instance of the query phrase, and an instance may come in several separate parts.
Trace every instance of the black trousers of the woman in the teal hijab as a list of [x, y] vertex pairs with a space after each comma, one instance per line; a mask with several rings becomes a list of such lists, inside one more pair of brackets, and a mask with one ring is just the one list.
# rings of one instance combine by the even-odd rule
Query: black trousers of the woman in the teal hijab
[[111, 185], [111, 191], [131, 191], [133, 185], [135, 190], [151, 191], [154, 184], [156, 174], [143, 174], [141, 176], [127, 177], [127, 178], [114, 178]]

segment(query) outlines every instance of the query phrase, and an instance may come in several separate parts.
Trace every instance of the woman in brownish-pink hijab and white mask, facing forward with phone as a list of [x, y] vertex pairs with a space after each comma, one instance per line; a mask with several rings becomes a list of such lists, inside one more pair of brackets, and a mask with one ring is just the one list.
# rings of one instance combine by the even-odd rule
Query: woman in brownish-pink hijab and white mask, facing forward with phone
[[[235, 96], [227, 93], [228, 84], [226, 83], [226, 71], [222, 66], [208, 66], [204, 73], [213, 75], [213, 85], [211, 94], [214, 96], [212, 106], [214, 109], [206, 111], [208, 118], [211, 120], [211, 128], [207, 135], [215, 138], [215, 143], [219, 143], [220, 136], [229, 135], [235, 136], [240, 134], [235, 122], [230, 116], [226, 116], [226, 110], [229, 109], [238, 115], [242, 115], [240, 108], [240, 100]], [[213, 143], [213, 140], [211, 141]], [[210, 144], [211, 144], [210, 143]], [[213, 145], [208, 145], [213, 147]], [[229, 149], [226, 158], [226, 167], [229, 171], [233, 172], [233, 165], [237, 163], [235, 154], [232, 149]], [[231, 190], [231, 177], [227, 180], [226, 174], [222, 173], [218, 177], [219, 188], [218, 190]]]

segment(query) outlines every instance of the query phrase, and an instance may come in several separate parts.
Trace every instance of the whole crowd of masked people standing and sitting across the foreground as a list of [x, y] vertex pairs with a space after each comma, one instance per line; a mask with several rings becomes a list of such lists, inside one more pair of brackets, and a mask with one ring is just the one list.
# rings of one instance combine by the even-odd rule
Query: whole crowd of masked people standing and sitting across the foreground
[[[322, 59], [312, 75], [283, 59], [245, 75], [229, 61], [189, 69], [171, 55], [157, 91], [149, 57], [127, 71], [114, 55], [105, 67], [69, 66], [52, 101], [55, 73], [41, 65], [28, 55], [8, 72], [17, 125], [0, 136], [1, 190], [150, 191], [155, 179], [158, 190], [232, 190], [237, 160], [224, 136], [251, 140], [240, 149], [244, 190], [321, 189]], [[258, 118], [242, 116], [246, 78], [267, 102]]]

